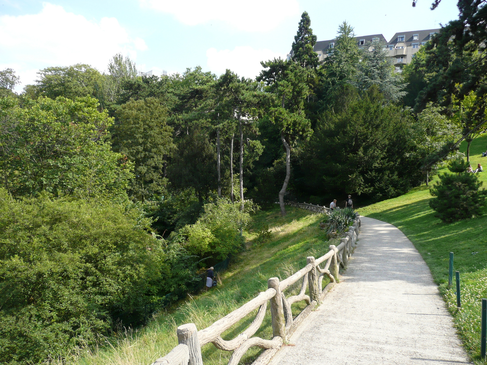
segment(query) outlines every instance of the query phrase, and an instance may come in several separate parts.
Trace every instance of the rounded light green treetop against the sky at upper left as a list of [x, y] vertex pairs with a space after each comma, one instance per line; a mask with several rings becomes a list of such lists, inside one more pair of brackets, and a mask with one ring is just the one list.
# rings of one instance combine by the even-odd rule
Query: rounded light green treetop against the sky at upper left
[[36, 80], [37, 96], [56, 99], [58, 96], [67, 99], [92, 96], [100, 98], [103, 77], [90, 65], [78, 63], [69, 67], [48, 67], [40, 70]]

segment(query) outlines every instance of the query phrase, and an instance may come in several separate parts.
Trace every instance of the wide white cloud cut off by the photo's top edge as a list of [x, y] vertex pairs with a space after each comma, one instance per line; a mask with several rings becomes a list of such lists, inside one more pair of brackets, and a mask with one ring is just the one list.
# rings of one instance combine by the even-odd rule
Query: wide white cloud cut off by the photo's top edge
[[174, 15], [187, 25], [224, 22], [249, 32], [274, 29], [285, 18], [299, 15], [297, 0], [139, 0], [141, 5]]

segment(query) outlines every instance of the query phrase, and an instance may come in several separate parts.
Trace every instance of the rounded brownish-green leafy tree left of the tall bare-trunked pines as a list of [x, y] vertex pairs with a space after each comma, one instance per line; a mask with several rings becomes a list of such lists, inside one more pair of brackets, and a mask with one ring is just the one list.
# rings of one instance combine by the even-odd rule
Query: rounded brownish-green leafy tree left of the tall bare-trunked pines
[[115, 115], [113, 149], [135, 164], [130, 193], [133, 199], [145, 201], [160, 193], [163, 165], [175, 147], [173, 128], [166, 124], [168, 110], [150, 97], [123, 104]]

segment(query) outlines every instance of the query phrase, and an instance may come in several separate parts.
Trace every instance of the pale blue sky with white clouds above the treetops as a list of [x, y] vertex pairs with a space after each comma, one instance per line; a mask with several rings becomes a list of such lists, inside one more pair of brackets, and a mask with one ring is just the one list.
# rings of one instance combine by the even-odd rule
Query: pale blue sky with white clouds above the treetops
[[138, 71], [160, 75], [201, 66], [255, 77], [260, 61], [289, 53], [303, 11], [318, 40], [333, 39], [344, 20], [356, 36], [439, 28], [458, 18], [443, 0], [0, 0], [0, 70], [20, 76], [76, 63], [104, 72], [116, 53]]

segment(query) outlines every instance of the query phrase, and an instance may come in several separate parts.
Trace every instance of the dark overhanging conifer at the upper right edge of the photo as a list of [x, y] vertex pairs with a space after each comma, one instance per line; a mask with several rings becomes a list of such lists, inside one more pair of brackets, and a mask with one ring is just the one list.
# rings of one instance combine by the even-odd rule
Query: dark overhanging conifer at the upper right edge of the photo
[[[413, 1], [413, 5], [415, 3]], [[439, 3], [440, 0], [435, 0], [431, 9]], [[459, 18], [450, 21], [432, 37], [426, 45], [425, 56], [415, 63], [415, 71], [421, 72], [427, 81], [416, 99], [415, 110], [424, 109], [432, 101], [445, 108], [445, 113], [451, 114], [452, 107], [458, 107], [464, 97], [473, 92], [475, 102], [467, 113], [467, 118], [473, 123], [458, 140], [432, 154], [425, 169], [448, 156], [486, 123], [487, 3], [484, 0], [459, 0], [457, 7]]]

